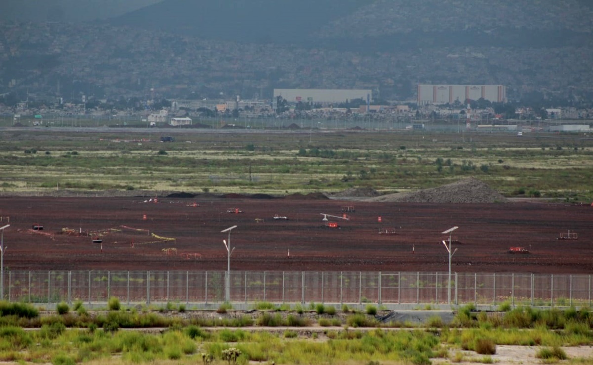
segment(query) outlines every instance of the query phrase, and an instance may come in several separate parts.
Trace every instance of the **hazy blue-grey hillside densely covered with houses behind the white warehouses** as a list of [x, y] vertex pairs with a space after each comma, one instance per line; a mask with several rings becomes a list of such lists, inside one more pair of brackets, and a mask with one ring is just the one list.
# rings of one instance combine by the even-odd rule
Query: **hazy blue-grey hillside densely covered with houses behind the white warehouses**
[[364, 88], [414, 100], [418, 83], [442, 83], [506, 85], [509, 100], [593, 100], [586, 1], [232, 4], [165, 0], [111, 23], [0, 23], [0, 94], [263, 99], [273, 88]]

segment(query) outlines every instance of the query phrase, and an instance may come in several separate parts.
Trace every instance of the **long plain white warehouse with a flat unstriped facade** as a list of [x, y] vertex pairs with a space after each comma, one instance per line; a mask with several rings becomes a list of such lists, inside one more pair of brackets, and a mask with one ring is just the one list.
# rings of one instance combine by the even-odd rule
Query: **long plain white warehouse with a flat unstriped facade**
[[345, 103], [346, 100], [362, 99], [372, 100], [371, 89], [274, 89], [273, 102], [278, 97], [284, 98], [289, 103], [315, 103], [335, 104]]

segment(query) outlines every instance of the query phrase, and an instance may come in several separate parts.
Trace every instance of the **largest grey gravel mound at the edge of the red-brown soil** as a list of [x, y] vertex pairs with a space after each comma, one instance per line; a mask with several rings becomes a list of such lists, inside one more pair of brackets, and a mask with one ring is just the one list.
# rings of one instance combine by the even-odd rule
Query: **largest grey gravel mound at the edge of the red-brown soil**
[[387, 194], [366, 201], [396, 201], [401, 203], [505, 203], [508, 201], [483, 181], [466, 178], [436, 188], [411, 193]]

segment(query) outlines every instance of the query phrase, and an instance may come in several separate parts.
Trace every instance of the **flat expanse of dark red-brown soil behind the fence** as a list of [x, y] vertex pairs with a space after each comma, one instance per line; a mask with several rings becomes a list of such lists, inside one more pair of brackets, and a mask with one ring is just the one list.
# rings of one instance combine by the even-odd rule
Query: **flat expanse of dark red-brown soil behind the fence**
[[[4, 233], [5, 267], [226, 270], [222, 240], [228, 233], [221, 230], [237, 225], [231, 232], [235, 270], [447, 271], [448, 254], [441, 241], [448, 236], [441, 232], [459, 226], [452, 235], [458, 241], [453, 244], [458, 249], [454, 271], [593, 273], [593, 207], [586, 205], [146, 200], [0, 197], [0, 226], [10, 224]], [[320, 213], [342, 216], [345, 206], [355, 207], [347, 213], [350, 219], [329, 217], [340, 228], [325, 227]], [[235, 208], [240, 213], [227, 212]], [[273, 219], [276, 214], [288, 220]], [[32, 230], [34, 225], [43, 230]], [[558, 239], [569, 230], [578, 239]], [[102, 251], [93, 238], [103, 240]], [[530, 253], [509, 254], [511, 246]]]

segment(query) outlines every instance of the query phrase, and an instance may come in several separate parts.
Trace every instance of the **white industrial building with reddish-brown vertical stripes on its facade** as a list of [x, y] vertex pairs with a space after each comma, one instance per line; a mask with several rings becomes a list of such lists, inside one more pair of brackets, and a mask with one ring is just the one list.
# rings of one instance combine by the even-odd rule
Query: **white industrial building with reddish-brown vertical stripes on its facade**
[[418, 85], [418, 105], [452, 104], [459, 101], [483, 98], [492, 103], [506, 101], [506, 87], [503, 85]]

